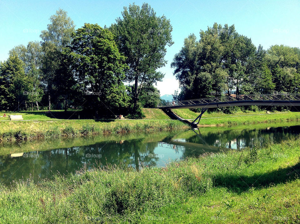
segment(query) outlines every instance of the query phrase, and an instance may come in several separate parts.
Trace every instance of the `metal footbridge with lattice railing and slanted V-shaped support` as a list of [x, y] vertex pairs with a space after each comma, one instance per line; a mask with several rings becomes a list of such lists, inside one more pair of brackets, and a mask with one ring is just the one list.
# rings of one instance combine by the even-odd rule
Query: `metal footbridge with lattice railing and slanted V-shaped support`
[[[200, 115], [192, 122], [192, 124], [198, 124], [202, 114], [208, 108], [249, 105], [296, 107], [300, 106], [300, 94], [251, 94], [211, 97], [204, 99], [166, 102], [163, 104], [159, 104], [156, 108], [163, 109], [165, 112], [169, 112], [170, 109], [202, 108]], [[197, 119], [199, 119], [198, 122], [196, 122]]]

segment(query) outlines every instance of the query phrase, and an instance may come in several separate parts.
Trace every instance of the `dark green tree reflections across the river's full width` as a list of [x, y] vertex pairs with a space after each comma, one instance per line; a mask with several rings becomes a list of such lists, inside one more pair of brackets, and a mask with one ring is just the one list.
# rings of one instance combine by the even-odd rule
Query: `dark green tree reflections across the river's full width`
[[[204, 130], [203, 132], [201, 130]], [[297, 136], [299, 126], [269, 127], [253, 130], [218, 130], [205, 132], [181, 132], [149, 135], [135, 139], [102, 141], [86, 146], [76, 146], [48, 151], [31, 152], [38, 157], [0, 156], [0, 181], [9, 185], [11, 180], [27, 179], [32, 175], [34, 181], [52, 177], [53, 173], [75, 173], [83, 165], [88, 168], [98, 165], [116, 164], [132, 166], [137, 170], [143, 166], [156, 166], [161, 158], [155, 149], [170, 148], [175, 157], [198, 157], [205, 152], [219, 152], [224, 149], [265, 146]], [[171, 151], [172, 152], [172, 151]], [[182, 153], [182, 154], [181, 154]], [[96, 157], [87, 157], [87, 154]], [[98, 155], [98, 156], [97, 156]], [[100, 155], [100, 156], [99, 156]], [[164, 158], [166, 159], [166, 158]], [[52, 172], [53, 171], [53, 172]], [[68, 172], [66, 172], [68, 171]]]

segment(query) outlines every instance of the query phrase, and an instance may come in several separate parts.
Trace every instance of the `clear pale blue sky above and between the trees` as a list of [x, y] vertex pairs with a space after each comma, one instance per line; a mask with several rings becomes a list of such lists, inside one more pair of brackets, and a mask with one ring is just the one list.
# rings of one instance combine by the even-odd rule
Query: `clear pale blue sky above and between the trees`
[[[135, 1], [142, 5], [145, 1]], [[264, 49], [274, 44], [300, 47], [300, 1], [147, 1], [157, 12], [171, 20], [173, 26], [172, 47], [168, 47], [168, 64], [159, 69], [165, 73], [163, 82], [158, 83], [161, 95], [172, 94], [178, 88], [170, 63], [179, 52], [183, 40], [190, 33], [199, 37], [214, 22], [235, 25], [238, 33], [252, 39]], [[121, 16], [129, 1], [15, 1], [0, 0], [0, 61], [7, 59], [11, 48], [29, 41], [40, 40], [40, 32], [47, 28], [49, 17], [58, 8], [68, 12], [76, 28], [87, 23], [110, 26]]]

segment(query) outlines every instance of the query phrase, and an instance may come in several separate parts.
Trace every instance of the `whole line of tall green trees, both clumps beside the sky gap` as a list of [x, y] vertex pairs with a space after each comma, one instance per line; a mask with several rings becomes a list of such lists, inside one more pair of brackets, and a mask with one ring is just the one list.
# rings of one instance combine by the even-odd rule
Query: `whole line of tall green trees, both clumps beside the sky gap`
[[[161, 102], [154, 86], [164, 74], [172, 25], [152, 7], [130, 4], [110, 27], [85, 23], [75, 30], [68, 13], [50, 17], [42, 41], [19, 45], [0, 63], [0, 110], [80, 108], [91, 116], [143, 117], [142, 107]], [[171, 67], [181, 92], [174, 99], [223, 94], [297, 93], [300, 50], [264, 50], [217, 23], [184, 40]], [[125, 84], [129, 83], [129, 84]]]

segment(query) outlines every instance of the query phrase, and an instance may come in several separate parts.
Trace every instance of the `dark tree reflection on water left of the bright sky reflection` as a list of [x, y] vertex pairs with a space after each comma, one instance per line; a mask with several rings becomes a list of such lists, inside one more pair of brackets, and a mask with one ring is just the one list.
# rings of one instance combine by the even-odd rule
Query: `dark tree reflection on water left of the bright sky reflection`
[[32, 155], [38, 155], [35, 157], [0, 156], [0, 182], [10, 185], [11, 180], [26, 180], [30, 177], [37, 182], [40, 178], [52, 177], [54, 173], [75, 173], [83, 165], [92, 168], [98, 165], [117, 164], [126, 167], [132, 166], [137, 170], [140, 169], [141, 164], [156, 166], [159, 158], [149, 155], [154, 155], [154, 149], [158, 142], [147, 141], [140, 138], [29, 152]]

